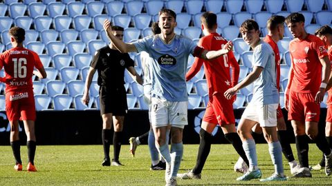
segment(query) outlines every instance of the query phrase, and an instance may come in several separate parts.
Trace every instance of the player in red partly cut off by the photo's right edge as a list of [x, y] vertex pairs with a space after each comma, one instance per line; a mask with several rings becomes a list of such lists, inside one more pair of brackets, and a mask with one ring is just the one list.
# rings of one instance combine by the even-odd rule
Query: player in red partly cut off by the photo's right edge
[[[332, 66], [332, 28], [329, 27], [329, 25], [324, 25], [321, 28], [317, 29], [315, 31], [315, 35], [322, 39], [324, 44], [326, 45], [327, 48], [327, 53], [329, 54], [329, 60], [330, 60], [330, 65]], [[326, 113], [326, 126], [325, 126], [325, 138], [327, 142], [330, 145], [330, 148], [332, 148], [332, 89], [331, 89], [331, 77], [332, 74], [330, 74], [330, 80], [329, 83], [326, 87], [326, 90], [328, 90], [328, 98], [326, 101], [327, 105], [327, 113]], [[323, 154], [322, 160], [320, 163], [317, 165], [311, 167], [311, 169], [314, 170], [320, 170], [324, 169], [325, 167], [325, 156]]]

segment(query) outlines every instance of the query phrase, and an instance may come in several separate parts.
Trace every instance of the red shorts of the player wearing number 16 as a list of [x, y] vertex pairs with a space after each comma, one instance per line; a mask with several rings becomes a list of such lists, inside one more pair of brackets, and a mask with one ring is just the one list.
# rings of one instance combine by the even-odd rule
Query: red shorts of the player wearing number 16
[[6, 92], [6, 113], [8, 121], [36, 119], [33, 91]]

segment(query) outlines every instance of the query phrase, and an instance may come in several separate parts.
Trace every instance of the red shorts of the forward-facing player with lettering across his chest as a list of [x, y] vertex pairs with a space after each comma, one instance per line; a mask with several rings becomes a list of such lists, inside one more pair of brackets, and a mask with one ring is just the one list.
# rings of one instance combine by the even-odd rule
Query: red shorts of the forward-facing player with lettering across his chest
[[320, 121], [320, 104], [314, 93], [289, 92], [288, 120]]

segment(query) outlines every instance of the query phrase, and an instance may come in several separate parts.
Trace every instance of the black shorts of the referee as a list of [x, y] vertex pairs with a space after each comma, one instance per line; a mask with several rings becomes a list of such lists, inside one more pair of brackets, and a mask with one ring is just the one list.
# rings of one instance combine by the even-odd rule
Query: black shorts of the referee
[[100, 114], [112, 113], [113, 116], [124, 116], [127, 114], [127, 92], [124, 87], [107, 88], [107, 86], [100, 86]]

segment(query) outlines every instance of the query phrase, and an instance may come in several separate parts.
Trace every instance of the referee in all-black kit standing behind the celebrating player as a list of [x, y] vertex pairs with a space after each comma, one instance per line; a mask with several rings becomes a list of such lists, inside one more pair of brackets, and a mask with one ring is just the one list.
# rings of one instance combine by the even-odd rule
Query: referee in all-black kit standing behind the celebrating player
[[[111, 34], [122, 40], [123, 28], [113, 26]], [[102, 166], [122, 166], [119, 161], [124, 115], [127, 114], [127, 93], [124, 88], [124, 70], [127, 69], [133, 75], [133, 79], [142, 85], [140, 75], [133, 68], [133, 60], [129, 54], [122, 54], [116, 49], [116, 45], [100, 48], [95, 52], [91, 61], [88, 75], [86, 76], [82, 101], [89, 104], [89, 88], [93, 74], [98, 70], [98, 85], [100, 85], [100, 114], [102, 116], [102, 145], [104, 147], [104, 161]], [[111, 127], [113, 124], [113, 159], [109, 158], [111, 145]]]

